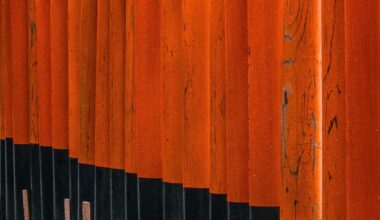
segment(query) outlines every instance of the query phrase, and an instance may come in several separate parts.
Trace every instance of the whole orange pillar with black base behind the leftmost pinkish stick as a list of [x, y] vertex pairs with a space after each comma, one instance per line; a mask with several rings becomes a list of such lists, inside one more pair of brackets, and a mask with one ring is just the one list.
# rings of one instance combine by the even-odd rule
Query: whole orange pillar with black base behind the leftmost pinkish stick
[[15, 219], [23, 216], [22, 190], [30, 192], [27, 11], [26, 1], [10, 1]]

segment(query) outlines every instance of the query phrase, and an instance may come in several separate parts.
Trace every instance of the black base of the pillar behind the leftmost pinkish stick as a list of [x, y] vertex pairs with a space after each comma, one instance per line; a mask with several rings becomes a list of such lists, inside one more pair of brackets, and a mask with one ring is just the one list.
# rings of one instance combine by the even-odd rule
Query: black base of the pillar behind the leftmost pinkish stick
[[[15, 199], [16, 199], [16, 219], [24, 216], [22, 190], [28, 191], [30, 197], [30, 147], [27, 144], [14, 145], [15, 164]], [[29, 202], [30, 204], [30, 202]]]

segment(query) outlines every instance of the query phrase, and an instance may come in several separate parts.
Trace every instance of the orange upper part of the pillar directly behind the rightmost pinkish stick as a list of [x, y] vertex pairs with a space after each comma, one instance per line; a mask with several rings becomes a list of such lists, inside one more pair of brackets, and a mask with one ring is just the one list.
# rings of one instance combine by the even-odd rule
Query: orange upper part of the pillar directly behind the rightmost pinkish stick
[[95, 162], [96, 8], [94, 0], [81, 1], [79, 55], [79, 162]]

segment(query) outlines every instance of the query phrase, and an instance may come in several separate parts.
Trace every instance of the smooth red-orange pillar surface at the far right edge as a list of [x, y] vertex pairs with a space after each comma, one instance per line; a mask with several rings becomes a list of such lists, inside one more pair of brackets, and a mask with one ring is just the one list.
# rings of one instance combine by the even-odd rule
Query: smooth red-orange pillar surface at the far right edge
[[351, 219], [380, 216], [379, 12], [376, 0], [345, 1], [346, 207]]

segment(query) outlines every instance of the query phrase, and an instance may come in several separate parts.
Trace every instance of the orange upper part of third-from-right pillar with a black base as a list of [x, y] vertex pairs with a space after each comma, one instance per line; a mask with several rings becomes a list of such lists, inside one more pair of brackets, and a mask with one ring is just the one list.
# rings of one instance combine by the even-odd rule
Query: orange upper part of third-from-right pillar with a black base
[[225, 4], [211, 1], [210, 60], [210, 192], [227, 193]]

